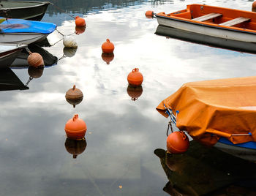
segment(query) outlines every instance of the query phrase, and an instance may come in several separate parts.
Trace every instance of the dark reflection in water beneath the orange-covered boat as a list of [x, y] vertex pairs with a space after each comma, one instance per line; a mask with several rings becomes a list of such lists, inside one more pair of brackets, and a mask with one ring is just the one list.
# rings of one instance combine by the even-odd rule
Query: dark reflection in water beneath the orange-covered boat
[[206, 148], [192, 140], [184, 154], [156, 149], [169, 180], [170, 195], [256, 195], [255, 163], [233, 157], [217, 148]]

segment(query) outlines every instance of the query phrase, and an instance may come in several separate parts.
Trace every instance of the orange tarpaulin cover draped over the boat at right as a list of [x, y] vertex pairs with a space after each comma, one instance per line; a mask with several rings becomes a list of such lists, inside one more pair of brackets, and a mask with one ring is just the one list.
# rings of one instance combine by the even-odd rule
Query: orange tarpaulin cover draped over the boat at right
[[167, 117], [164, 105], [177, 115], [178, 129], [207, 143], [219, 137], [233, 144], [256, 141], [255, 76], [185, 83], [157, 106]]

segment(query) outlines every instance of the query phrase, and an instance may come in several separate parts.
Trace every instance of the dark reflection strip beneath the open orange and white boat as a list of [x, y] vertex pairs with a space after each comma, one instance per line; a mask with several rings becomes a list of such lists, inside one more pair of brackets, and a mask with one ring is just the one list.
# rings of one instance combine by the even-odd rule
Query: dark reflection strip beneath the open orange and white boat
[[175, 29], [167, 26], [157, 26], [155, 34], [165, 36], [167, 38], [179, 39], [182, 41], [208, 45], [214, 48], [222, 48], [227, 50], [235, 50], [242, 53], [256, 53], [256, 43], [240, 42], [231, 39], [212, 37], [205, 34], [197, 34], [181, 29]]

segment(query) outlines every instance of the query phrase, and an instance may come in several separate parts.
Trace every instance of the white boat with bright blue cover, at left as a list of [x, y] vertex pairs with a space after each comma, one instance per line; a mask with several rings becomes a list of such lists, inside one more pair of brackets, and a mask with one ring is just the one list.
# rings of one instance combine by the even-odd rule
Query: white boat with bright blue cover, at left
[[39, 42], [56, 29], [56, 24], [34, 20], [0, 18], [0, 43], [29, 45]]

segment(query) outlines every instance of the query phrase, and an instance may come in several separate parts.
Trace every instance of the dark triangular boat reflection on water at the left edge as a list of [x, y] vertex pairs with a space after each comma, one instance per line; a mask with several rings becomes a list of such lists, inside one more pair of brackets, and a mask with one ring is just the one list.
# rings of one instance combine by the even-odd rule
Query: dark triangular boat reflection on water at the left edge
[[29, 89], [9, 67], [0, 69], [0, 91]]

